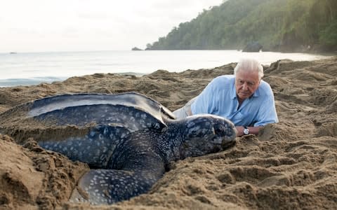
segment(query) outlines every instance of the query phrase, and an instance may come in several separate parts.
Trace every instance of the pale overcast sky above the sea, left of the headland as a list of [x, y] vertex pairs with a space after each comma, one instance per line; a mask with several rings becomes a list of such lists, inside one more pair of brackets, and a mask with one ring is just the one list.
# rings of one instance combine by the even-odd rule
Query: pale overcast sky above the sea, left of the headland
[[223, 0], [0, 0], [0, 52], [131, 50]]

